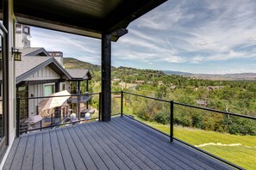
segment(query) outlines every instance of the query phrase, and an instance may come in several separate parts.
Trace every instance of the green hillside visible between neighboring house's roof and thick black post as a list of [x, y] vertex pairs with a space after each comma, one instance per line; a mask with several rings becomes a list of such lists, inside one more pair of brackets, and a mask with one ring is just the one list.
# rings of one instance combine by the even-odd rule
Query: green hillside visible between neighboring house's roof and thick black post
[[89, 69], [89, 70], [101, 69], [100, 65], [90, 64], [75, 58], [63, 58], [63, 64], [66, 69]]

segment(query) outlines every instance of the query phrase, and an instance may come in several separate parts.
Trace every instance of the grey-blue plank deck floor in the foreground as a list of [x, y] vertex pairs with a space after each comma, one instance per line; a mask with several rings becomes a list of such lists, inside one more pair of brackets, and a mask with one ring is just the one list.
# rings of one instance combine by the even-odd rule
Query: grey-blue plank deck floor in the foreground
[[16, 138], [4, 169], [231, 169], [130, 118]]

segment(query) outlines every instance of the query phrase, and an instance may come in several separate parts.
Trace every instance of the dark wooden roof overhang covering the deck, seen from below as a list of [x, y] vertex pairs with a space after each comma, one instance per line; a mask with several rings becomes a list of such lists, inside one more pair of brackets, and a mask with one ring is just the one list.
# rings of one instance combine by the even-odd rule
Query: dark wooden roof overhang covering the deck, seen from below
[[[166, 0], [13, 0], [18, 22], [101, 39], [112, 33], [116, 41], [131, 21]], [[122, 33], [116, 31], [122, 30]]]

